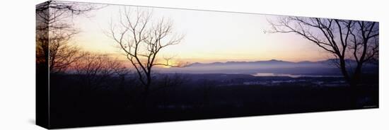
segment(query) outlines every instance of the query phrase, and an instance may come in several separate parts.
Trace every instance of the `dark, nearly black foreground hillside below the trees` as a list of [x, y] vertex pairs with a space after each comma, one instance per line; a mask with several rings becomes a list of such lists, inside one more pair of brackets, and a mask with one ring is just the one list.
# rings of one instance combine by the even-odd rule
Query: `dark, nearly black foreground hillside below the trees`
[[83, 75], [51, 75], [50, 124], [54, 129], [378, 107], [376, 75], [364, 77], [357, 94], [335, 77], [224, 73], [153, 77], [153, 89], [144, 98], [142, 86], [132, 76], [91, 82]]

